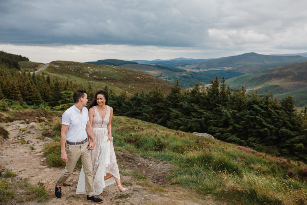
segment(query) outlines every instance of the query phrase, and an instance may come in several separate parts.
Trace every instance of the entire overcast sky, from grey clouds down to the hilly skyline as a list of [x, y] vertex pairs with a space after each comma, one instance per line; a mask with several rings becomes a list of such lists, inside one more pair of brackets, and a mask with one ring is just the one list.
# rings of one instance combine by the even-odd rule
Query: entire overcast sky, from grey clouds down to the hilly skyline
[[55, 60], [307, 52], [306, 0], [0, 0], [0, 50]]

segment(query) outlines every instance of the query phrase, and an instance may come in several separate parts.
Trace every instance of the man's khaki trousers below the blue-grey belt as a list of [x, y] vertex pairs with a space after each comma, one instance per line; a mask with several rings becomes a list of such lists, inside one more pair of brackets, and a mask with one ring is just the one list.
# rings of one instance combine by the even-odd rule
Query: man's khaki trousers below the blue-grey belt
[[56, 184], [58, 186], [62, 186], [63, 183], [68, 179], [74, 168], [77, 164], [79, 158], [81, 158], [81, 163], [83, 165], [84, 173], [85, 173], [85, 192], [87, 195], [93, 195], [93, 168], [92, 168], [92, 160], [91, 160], [91, 152], [88, 147], [88, 142], [84, 144], [76, 144], [70, 145], [66, 144], [65, 151], [67, 154], [67, 162], [66, 167], [60, 174]]

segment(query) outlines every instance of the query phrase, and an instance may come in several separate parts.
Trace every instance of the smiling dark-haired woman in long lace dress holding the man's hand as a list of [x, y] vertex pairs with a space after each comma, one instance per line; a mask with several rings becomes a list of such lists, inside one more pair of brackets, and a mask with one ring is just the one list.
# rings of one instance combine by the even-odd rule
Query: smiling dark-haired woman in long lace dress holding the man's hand
[[[89, 105], [88, 116], [94, 131], [96, 145], [91, 151], [93, 165], [94, 195], [102, 193], [103, 188], [116, 182], [119, 191], [125, 192], [120, 183], [119, 169], [114, 152], [111, 121], [113, 109], [107, 105], [108, 94], [99, 90]], [[81, 168], [76, 194], [85, 194], [85, 175]]]

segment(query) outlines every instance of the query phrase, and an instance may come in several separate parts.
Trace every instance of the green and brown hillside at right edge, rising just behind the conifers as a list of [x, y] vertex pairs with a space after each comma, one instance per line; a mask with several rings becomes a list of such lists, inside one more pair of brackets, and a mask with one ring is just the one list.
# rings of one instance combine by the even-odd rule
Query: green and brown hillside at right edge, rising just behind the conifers
[[248, 93], [258, 90], [260, 96], [271, 92], [279, 100], [292, 95], [295, 106], [307, 105], [307, 62], [278, 66], [227, 79], [231, 88], [242, 85]]

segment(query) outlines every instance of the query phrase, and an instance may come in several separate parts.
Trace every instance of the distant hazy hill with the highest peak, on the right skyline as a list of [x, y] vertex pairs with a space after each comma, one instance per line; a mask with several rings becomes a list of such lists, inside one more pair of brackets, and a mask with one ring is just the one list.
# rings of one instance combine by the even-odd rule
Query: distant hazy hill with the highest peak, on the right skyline
[[280, 65], [307, 62], [302, 56], [271, 56], [245, 53], [199, 63], [196, 69], [228, 69], [242, 73], [252, 73]]

